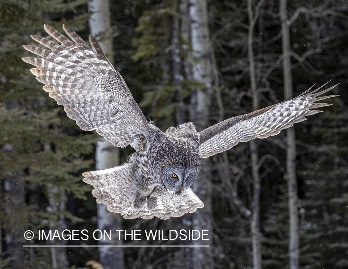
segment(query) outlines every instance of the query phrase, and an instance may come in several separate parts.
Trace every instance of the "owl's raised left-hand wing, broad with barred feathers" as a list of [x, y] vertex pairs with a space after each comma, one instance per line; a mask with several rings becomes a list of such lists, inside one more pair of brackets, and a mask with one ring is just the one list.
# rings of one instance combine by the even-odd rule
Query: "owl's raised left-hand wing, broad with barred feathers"
[[150, 139], [150, 124], [95, 39], [89, 36], [90, 48], [64, 24], [73, 42], [48, 25], [44, 29], [61, 44], [31, 35], [50, 50], [25, 45], [27, 51], [41, 58], [22, 58], [36, 66], [30, 71], [45, 84], [43, 89], [64, 106], [68, 117], [82, 130], [96, 130], [117, 147], [130, 144], [140, 151]]

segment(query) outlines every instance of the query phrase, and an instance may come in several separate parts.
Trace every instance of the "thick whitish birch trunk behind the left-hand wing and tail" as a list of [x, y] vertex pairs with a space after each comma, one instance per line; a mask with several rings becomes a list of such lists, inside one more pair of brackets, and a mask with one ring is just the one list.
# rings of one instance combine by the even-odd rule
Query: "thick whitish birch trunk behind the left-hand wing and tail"
[[[94, 12], [89, 19], [89, 28], [92, 36], [96, 38], [104, 54], [113, 63], [112, 40], [100, 41], [97, 35], [111, 27], [109, 0], [92, 0], [88, 3], [88, 11]], [[110, 142], [102, 139], [96, 145], [96, 169], [106, 169], [119, 165], [119, 151]], [[98, 229], [119, 230], [122, 219], [120, 214], [111, 213], [106, 205], [97, 203]], [[108, 239], [108, 238], [106, 238]], [[119, 240], [99, 240], [99, 245], [120, 245]], [[125, 268], [124, 253], [120, 247], [99, 247], [99, 260], [104, 269]]]

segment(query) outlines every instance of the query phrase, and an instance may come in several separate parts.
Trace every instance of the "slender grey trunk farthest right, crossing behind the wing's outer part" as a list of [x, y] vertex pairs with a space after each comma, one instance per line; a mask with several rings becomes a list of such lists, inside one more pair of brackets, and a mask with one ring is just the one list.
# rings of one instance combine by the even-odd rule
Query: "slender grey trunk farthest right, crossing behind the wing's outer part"
[[[291, 51], [290, 51], [290, 21], [287, 16], [287, 0], [280, 0], [280, 20], [282, 25], [284, 99], [292, 98]], [[299, 268], [300, 235], [299, 211], [297, 207], [297, 180], [295, 170], [296, 144], [295, 129], [286, 129], [286, 179], [289, 196], [289, 263], [291, 269]]]

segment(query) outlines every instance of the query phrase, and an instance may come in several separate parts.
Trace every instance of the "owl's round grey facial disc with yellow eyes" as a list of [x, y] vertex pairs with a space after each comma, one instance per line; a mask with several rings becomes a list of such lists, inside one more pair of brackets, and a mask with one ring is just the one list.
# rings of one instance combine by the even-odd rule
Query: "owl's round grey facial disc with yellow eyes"
[[185, 165], [184, 163], [169, 163], [159, 170], [161, 184], [169, 191], [179, 195], [195, 182], [200, 165]]

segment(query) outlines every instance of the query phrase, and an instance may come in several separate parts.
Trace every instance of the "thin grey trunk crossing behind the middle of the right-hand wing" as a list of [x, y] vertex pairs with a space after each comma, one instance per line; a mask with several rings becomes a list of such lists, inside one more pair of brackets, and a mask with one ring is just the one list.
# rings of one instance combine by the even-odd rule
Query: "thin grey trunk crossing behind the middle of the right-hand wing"
[[[262, 1], [262, 0], [260, 0]], [[248, 30], [248, 57], [249, 57], [249, 72], [250, 72], [250, 87], [252, 91], [253, 99], [253, 111], [259, 109], [259, 97], [256, 90], [256, 75], [255, 75], [255, 62], [253, 51], [253, 39], [254, 39], [254, 26], [257, 20], [257, 15], [254, 17], [252, 2], [248, 0], [248, 17], [249, 17], [249, 30]], [[256, 11], [258, 12], [258, 11]], [[251, 156], [251, 169], [253, 176], [253, 198], [251, 203], [252, 216], [250, 222], [251, 230], [251, 243], [253, 252], [253, 268], [262, 268], [262, 256], [261, 256], [261, 243], [260, 243], [260, 174], [258, 168], [258, 151], [256, 141], [250, 141], [250, 156]]]

